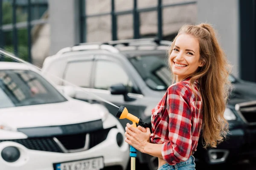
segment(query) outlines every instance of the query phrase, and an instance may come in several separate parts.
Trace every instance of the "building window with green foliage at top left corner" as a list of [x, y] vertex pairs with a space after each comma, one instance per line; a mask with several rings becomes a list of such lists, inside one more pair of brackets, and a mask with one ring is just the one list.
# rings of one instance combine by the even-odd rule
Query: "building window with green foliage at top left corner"
[[[47, 23], [48, 0], [0, 0], [0, 47], [32, 62], [38, 27]], [[1, 61], [12, 61], [0, 55]]]

